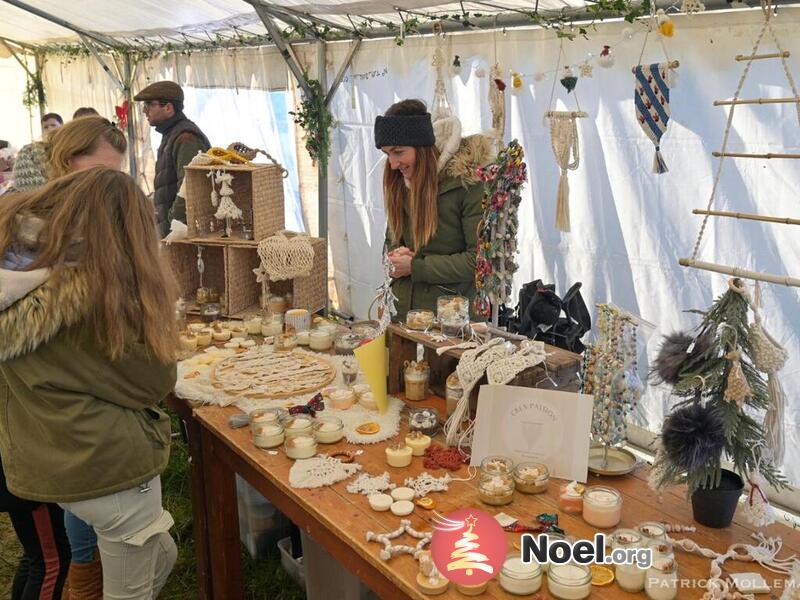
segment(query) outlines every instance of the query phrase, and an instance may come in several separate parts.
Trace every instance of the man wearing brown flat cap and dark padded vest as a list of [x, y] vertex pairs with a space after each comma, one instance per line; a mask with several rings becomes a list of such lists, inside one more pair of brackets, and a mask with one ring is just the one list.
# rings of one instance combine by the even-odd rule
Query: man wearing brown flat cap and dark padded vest
[[178, 196], [184, 168], [211, 144], [200, 128], [183, 114], [183, 89], [174, 81], [151, 83], [133, 99], [142, 103], [147, 122], [162, 136], [156, 159], [153, 203], [163, 237], [169, 232], [172, 219], [186, 222], [186, 201]]

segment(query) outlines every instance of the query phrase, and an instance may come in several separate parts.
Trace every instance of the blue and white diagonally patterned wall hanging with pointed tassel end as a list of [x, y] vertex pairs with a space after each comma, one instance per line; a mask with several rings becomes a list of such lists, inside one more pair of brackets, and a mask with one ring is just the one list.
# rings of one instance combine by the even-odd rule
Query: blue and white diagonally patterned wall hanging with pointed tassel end
[[633, 72], [636, 87], [633, 101], [636, 106], [636, 118], [642, 130], [656, 147], [656, 157], [653, 171], [664, 173], [667, 166], [661, 157], [661, 136], [667, 130], [669, 123], [669, 83], [667, 63], [653, 63], [651, 65], [638, 65]]

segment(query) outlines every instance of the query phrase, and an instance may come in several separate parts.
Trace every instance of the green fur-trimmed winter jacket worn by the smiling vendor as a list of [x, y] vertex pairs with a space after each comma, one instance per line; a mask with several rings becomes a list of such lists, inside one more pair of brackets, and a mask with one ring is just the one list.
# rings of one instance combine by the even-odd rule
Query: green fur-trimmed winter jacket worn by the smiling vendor
[[[483, 185], [477, 182], [475, 168], [491, 158], [490, 147], [483, 136], [465, 138], [440, 174], [436, 233], [411, 261], [411, 275], [392, 282], [398, 320], [404, 320], [412, 308], [435, 311], [436, 299], [443, 295], [465, 296], [471, 308], [477, 294], [477, 232], [483, 217]], [[414, 249], [407, 205], [402, 239], [393, 241], [387, 228], [386, 243], [389, 250], [400, 246]]]

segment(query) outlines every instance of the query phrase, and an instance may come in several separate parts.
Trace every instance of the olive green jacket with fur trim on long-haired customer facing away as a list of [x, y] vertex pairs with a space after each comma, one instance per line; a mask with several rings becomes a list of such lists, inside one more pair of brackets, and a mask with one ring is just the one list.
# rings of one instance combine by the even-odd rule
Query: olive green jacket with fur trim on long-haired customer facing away
[[0, 455], [9, 490], [75, 502], [160, 474], [170, 423], [158, 404], [175, 386], [175, 364], [142, 345], [112, 361], [85, 326], [88, 286], [75, 269], [9, 298], [25, 292], [22, 276], [0, 269]]

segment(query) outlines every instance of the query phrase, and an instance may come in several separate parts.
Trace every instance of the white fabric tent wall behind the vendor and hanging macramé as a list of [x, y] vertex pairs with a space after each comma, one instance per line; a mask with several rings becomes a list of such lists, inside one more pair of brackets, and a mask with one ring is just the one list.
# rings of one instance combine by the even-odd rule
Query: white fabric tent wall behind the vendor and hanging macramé
[[[743, 63], [760, 26], [760, 13], [703, 14], [676, 17], [675, 37], [667, 41], [672, 58], [681, 61], [673, 89], [672, 120], [662, 140], [669, 173], [651, 172], [653, 145], [641, 131], [633, 111], [631, 66], [638, 62], [643, 35], [620, 44], [627, 24], [598, 26], [588, 40], [564, 44], [566, 61], [583, 61], [604, 44], [618, 45], [612, 69], [595, 66], [591, 79], [581, 79], [577, 95], [590, 118], [579, 126], [581, 165], [570, 173], [572, 233], [554, 228], [558, 181], [543, 122], [552, 76], [534, 83], [525, 78], [521, 95], [507, 94], [506, 138], [525, 148], [530, 183], [520, 210], [520, 271], [517, 287], [534, 278], [556, 283], [559, 291], [582, 281], [587, 303], [614, 302], [658, 326], [650, 356], [659, 338], [697, 323], [685, 309], [703, 309], [721, 293], [726, 277], [678, 265], [689, 256], [700, 226], [693, 208], [705, 207], [714, 176], [727, 112], [716, 99], [733, 95]], [[775, 20], [791, 64], [800, 78], [800, 11], [781, 9]], [[500, 64], [525, 74], [552, 71], [559, 44], [552, 32], [515, 31], [499, 35]], [[392, 41], [365, 42], [348, 80], [333, 103], [339, 121], [334, 132], [330, 166], [329, 222], [335, 278], [342, 307], [364, 316], [380, 282], [380, 254], [386, 216], [381, 174], [383, 158], [372, 143], [372, 124], [392, 102], [406, 97], [430, 101], [435, 76], [430, 67], [432, 39], [409, 39], [398, 48]], [[448, 93], [467, 133], [490, 126], [486, 101], [488, 78], [477, 78], [471, 66], [488, 72], [493, 56], [491, 33], [455, 36], [453, 54], [461, 56], [462, 75], [453, 77]], [[333, 47], [332, 63], [341, 63], [346, 44]], [[651, 39], [643, 62], [660, 62], [663, 51]], [[493, 62], [493, 60], [492, 60]], [[331, 71], [332, 73], [333, 71]], [[353, 87], [355, 77], [355, 87]], [[510, 91], [510, 87], [509, 87]], [[779, 61], [760, 61], [751, 72], [743, 96], [790, 96]], [[574, 99], [556, 86], [557, 107], [573, 109]], [[800, 152], [800, 125], [793, 105], [739, 107], [731, 150]], [[769, 215], [800, 215], [797, 161], [729, 160], [716, 207]], [[797, 228], [715, 219], [708, 227], [701, 260], [771, 273], [800, 275]], [[781, 376], [789, 395], [786, 472], [800, 483], [800, 321], [797, 289], [764, 286], [764, 319], [770, 331], [792, 354]], [[643, 370], [647, 365], [642, 365]], [[637, 415], [657, 430], [670, 400], [664, 390], [649, 390]]]

